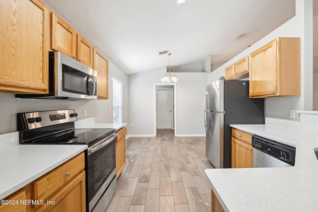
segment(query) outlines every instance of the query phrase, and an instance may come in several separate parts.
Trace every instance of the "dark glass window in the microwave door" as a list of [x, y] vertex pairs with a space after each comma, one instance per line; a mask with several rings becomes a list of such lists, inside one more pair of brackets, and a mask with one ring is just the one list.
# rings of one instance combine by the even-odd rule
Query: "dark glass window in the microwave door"
[[[62, 90], [87, 95], [87, 74], [62, 64]], [[90, 85], [92, 86], [92, 85]]]

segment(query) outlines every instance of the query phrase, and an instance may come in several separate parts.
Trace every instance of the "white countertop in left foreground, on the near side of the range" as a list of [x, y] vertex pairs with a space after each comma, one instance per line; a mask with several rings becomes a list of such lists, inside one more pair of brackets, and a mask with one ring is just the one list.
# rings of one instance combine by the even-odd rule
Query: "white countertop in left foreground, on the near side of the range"
[[87, 149], [87, 145], [14, 145], [0, 150], [0, 200]]

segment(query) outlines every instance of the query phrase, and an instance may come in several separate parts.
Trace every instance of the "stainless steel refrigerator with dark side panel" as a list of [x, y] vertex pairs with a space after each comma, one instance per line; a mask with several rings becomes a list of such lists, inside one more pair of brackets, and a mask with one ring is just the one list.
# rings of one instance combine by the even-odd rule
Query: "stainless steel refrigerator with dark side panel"
[[220, 79], [207, 85], [204, 101], [206, 157], [231, 168], [230, 124], [264, 124], [264, 99], [250, 99], [248, 81]]

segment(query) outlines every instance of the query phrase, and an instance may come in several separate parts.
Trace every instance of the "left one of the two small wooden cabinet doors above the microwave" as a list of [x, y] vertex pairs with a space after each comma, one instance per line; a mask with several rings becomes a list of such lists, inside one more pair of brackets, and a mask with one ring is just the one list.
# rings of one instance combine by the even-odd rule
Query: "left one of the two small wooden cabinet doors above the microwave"
[[51, 22], [51, 48], [76, 59], [76, 31], [53, 12]]

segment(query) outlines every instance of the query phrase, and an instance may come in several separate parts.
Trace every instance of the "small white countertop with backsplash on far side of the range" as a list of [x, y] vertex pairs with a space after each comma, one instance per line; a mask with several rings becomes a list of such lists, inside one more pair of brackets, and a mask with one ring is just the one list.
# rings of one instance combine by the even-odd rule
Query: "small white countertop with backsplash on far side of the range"
[[125, 126], [127, 126], [126, 123], [95, 123], [95, 118], [81, 119], [75, 122], [75, 128], [77, 129], [115, 128], [118, 131]]

